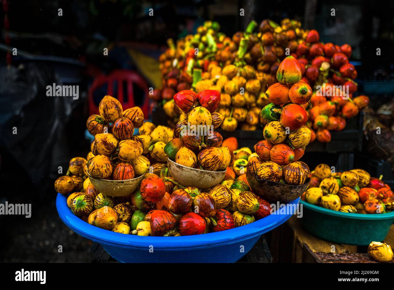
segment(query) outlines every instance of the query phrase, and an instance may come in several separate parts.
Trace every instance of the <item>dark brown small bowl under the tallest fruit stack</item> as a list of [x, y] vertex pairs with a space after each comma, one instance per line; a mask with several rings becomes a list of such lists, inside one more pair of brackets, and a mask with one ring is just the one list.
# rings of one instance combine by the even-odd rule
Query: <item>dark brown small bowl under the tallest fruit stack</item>
[[256, 195], [270, 202], [287, 203], [300, 197], [307, 190], [309, 179], [303, 185], [288, 185], [275, 181], [258, 179], [246, 172], [247, 182]]

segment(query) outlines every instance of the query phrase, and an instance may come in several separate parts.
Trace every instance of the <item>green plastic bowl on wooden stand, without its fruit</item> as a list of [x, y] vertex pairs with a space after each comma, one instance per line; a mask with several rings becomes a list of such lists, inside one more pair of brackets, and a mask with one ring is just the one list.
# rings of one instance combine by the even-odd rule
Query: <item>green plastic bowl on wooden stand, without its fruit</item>
[[300, 200], [301, 225], [310, 234], [337, 244], [367, 246], [383, 241], [394, 221], [394, 211], [362, 214], [327, 210]]

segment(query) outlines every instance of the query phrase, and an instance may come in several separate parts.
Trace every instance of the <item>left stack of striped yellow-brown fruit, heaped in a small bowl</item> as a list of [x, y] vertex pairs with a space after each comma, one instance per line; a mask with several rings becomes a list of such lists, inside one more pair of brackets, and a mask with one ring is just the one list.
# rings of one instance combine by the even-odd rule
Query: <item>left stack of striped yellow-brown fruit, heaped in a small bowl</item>
[[134, 134], [143, 125], [139, 107], [123, 111], [121, 103], [106, 95], [100, 101], [99, 115], [89, 116], [86, 127], [95, 138], [87, 160], [87, 174], [93, 178], [128, 180], [144, 174], [149, 160], [141, 157], [146, 140]]

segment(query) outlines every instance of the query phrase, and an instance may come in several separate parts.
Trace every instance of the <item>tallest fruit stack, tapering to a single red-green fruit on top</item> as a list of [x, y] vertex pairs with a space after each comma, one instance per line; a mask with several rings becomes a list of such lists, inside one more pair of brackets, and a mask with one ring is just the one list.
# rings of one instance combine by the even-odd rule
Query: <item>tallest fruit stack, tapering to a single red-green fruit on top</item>
[[278, 67], [279, 82], [269, 86], [266, 92], [272, 103], [261, 112], [268, 122], [263, 130], [265, 140], [255, 145], [257, 156], [247, 165], [247, 172], [259, 179], [302, 185], [309, 176], [308, 165], [298, 159], [310, 141], [311, 132], [304, 126], [307, 112], [301, 104], [309, 101], [312, 90], [300, 79], [299, 63], [288, 56]]

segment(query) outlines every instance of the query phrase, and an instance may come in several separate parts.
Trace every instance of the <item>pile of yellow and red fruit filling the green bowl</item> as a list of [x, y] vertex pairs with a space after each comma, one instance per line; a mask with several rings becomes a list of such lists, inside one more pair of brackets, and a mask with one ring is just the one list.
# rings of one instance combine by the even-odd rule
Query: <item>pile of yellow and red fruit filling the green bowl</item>
[[333, 172], [327, 164], [320, 164], [311, 172], [309, 188], [301, 199], [329, 210], [385, 213], [394, 210], [394, 193], [381, 179], [363, 169]]

